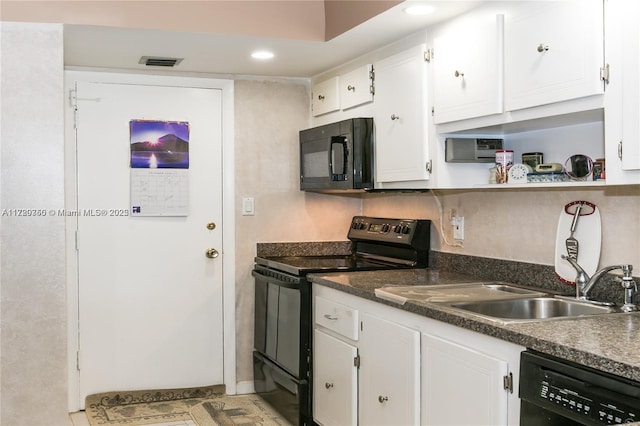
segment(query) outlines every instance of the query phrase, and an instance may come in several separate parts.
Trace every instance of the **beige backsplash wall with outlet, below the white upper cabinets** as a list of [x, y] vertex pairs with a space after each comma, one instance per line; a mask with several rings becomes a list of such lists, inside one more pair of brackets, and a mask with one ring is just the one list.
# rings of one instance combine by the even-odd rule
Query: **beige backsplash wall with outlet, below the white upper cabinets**
[[[448, 214], [464, 216], [464, 247], [448, 246], [439, 234], [439, 211], [452, 242]], [[600, 266], [635, 265], [640, 275], [640, 186], [592, 189], [437, 190], [426, 194], [368, 196], [363, 213], [434, 220], [431, 246], [436, 250], [553, 265], [558, 218], [565, 204], [576, 200], [598, 206], [602, 217]], [[532, 283], [535, 285], [535, 283]]]

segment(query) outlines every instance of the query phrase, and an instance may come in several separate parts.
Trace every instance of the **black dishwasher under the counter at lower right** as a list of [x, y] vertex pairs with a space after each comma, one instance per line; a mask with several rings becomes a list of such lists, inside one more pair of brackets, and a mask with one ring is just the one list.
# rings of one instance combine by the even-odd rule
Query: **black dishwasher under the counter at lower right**
[[640, 421], [640, 383], [525, 351], [520, 426], [614, 425]]

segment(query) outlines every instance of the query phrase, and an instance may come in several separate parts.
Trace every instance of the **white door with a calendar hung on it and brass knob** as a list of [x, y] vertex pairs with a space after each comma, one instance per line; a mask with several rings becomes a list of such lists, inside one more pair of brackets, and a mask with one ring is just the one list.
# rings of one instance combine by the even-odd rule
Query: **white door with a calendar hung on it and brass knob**
[[[221, 90], [78, 82], [76, 98], [81, 408], [98, 392], [223, 383]], [[150, 133], [138, 141], [132, 121]], [[162, 122], [180, 131], [153, 132]], [[132, 143], [159, 137], [174, 144], [132, 169]], [[188, 169], [164, 168], [178, 145]]]

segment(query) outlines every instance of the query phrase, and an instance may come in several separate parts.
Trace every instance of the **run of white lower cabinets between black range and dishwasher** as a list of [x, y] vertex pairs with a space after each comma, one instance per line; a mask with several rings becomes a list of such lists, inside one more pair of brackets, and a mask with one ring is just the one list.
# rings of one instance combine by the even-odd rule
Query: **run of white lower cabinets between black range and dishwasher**
[[[313, 292], [320, 425], [519, 424], [524, 347], [322, 285]], [[340, 319], [319, 322], [335, 312], [359, 318], [356, 335], [332, 326]]]

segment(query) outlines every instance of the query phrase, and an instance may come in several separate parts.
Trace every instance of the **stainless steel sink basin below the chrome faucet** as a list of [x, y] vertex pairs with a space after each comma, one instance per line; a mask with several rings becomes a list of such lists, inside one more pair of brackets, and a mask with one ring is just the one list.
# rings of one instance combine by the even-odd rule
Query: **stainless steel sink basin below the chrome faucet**
[[540, 321], [620, 312], [613, 306], [553, 297], [457, 302], [449, 306], [501, 322]]

